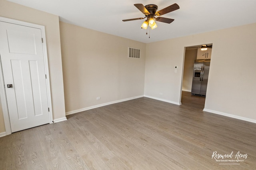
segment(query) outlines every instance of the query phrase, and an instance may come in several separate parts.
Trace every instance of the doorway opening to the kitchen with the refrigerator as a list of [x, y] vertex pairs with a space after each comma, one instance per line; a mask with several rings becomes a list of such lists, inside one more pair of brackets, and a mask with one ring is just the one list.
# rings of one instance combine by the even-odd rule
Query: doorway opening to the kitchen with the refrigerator
[[[203, 49], [204, 47], [206, 48]], [[185, 47], [184, 51], [180, 102], [204, 109], [212, 43]], [[198, 63], [198, 68], [195, 67], [195, 63]]]

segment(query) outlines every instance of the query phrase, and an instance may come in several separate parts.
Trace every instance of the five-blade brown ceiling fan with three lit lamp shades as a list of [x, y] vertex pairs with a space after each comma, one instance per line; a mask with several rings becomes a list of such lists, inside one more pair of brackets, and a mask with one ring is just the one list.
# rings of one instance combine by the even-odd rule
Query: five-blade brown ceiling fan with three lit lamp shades
[[[138, 8], [145, 15], [144, 18], [146, 18], [146, 20], [141, 25], [141, 27], [144, 29], [147, 29], [148, 26], [150, 26], [151, 29], [155, 29], [157, 27], [155, 21], [171, 23], [172, 21], [174, 21], [174, 19], [164, 18], [164, 17], [156, 18], [155, 16], [162, 16], [162, 15], [172, 12], [174, 10], [180, 9], [178, 4], [176, 4], [176, 3], [164, 8], [160, 11], [156, 11], [158, 6], [154, 5], [154, 4], [150, 4], [150, 5], [146, 5], [146, 6], [144, 6], [143, 4], [134, 4], [134, 6], [136, 6], [136, 8]], [[122, 21], [143, 20], [144, 18], [133, 18], [133, 19], [122, 20]]]

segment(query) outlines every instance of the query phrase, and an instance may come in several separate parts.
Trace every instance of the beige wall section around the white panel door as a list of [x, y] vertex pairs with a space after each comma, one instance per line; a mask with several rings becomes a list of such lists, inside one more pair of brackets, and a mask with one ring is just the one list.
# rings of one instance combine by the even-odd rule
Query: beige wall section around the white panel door
[[[58, 16], [8, 2], [6, 0], [0, 0], [0, 4], [0, 16], [2, 17], [45, 26], [50, 71], [50, 87], [52, 93], [53, 119], [65, 117]], [[0, 115], [0, 119], [1, 117], [2, 116]], [[0, 126], [0, 128], [1, 127], [2, 126]], [[5, 129], [0, 129], [0, 133], [4, 131]]]

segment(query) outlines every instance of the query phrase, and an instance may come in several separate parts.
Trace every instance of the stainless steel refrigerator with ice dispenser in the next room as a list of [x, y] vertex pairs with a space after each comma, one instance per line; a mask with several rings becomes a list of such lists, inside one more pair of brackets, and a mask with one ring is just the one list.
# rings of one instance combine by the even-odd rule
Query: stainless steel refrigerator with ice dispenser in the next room
[[195, 60], [191, 94], [206, 95], [210, 61], [210, 59]]

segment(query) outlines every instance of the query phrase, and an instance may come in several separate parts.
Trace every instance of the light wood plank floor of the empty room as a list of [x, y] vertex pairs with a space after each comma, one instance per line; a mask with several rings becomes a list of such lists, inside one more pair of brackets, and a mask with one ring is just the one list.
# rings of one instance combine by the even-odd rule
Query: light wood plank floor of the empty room
[[[0, 138], [0, 170], [256, 169], [256, 124], [203, 108], [182, 92], [181, 106], [138, 98], [69, 115]], [[223, 165], [214, 151], [248, 156]]]

